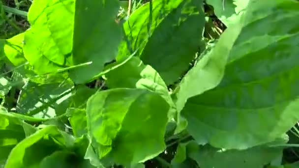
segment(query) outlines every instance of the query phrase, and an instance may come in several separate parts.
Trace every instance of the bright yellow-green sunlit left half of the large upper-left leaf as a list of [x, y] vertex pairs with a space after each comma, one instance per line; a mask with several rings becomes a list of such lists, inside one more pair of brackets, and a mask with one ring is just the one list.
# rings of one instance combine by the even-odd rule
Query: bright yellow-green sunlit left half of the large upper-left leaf
[[74, 0], [34, 0], [28, 13], [24, 55], [38, 74], [72, 65]]

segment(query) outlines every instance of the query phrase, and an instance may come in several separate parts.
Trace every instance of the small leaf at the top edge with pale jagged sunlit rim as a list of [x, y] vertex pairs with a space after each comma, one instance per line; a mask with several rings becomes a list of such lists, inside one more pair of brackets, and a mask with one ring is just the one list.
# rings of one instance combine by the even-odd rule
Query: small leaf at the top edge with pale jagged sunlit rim
[[206, 0], [214, 8], [217, 18], [227, 27], [238, 22], [247, 8], [249, 0]]

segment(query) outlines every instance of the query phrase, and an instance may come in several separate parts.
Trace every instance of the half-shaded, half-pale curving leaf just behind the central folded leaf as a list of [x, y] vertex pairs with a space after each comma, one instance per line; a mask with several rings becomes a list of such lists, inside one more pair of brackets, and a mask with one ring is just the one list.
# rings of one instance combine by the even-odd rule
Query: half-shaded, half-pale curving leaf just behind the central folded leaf
[[[113, 63], [111, 66], [115, 64], [118, 63]], [[122, 66], [109, 71], [105, 77], [109, 88], [140, 88], [158, 93], [171, 107], [169, 119], [172, 119], [176, 114], [176, 107], [166, 84], [157, 71], [151, 66], [143, 64], [138, 57], [132, 57]]]

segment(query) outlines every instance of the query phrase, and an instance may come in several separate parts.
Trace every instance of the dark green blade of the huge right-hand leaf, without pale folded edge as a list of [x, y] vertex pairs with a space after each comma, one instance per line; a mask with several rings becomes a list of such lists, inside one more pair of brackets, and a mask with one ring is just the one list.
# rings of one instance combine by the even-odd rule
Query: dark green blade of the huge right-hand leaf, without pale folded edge
[[200, 144], [245, 149], [275, 140], [299, 120], [299, 2], [251, 0], [243, 16], [235, 42], [220, 37], [234, 43], [221, 83], [189, 98], [181, 112]]

